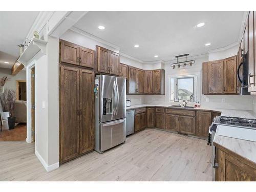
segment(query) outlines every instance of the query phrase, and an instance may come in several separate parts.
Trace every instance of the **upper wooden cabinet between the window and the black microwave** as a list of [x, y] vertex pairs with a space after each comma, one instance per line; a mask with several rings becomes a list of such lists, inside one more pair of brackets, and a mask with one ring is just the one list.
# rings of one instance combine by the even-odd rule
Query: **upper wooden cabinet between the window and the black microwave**
[[239, 94], [241, 84], [237, 78], [238, 57], [203, 62], [203, 94]]

